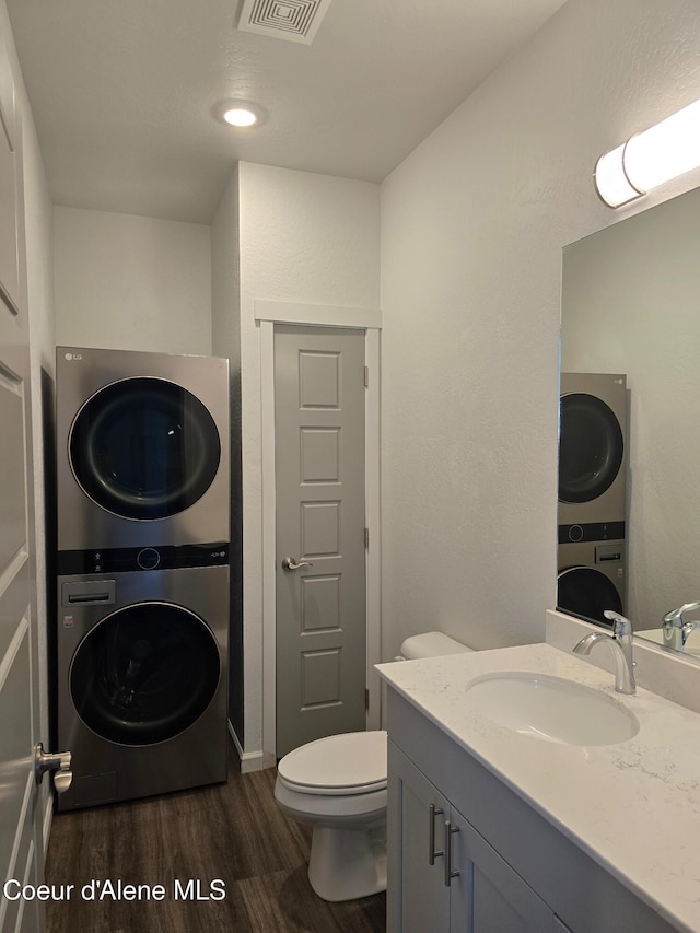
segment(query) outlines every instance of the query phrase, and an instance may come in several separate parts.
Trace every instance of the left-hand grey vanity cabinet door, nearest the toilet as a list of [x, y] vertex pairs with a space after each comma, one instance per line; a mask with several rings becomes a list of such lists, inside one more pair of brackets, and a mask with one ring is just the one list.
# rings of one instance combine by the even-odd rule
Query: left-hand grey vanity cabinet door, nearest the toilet
[[443, 841], [450, 804], [390, 742], [388, 756], [387, 931], [448, 933]]

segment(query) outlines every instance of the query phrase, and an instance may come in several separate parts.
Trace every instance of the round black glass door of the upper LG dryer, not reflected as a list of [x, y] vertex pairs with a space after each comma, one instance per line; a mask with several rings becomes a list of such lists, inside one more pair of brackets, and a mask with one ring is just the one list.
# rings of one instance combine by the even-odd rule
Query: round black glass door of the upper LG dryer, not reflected
[[84, 492], [125, 518], [165, 518], [213, 482], [221, 442], [190, 392], [160, 378], [129, 378], [95, 393], [70, 431], [69, 458]]

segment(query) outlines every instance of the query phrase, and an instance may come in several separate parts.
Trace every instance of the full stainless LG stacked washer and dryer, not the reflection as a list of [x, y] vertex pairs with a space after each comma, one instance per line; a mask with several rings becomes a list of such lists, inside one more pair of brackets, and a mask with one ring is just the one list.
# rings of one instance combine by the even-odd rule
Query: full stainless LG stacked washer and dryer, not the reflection
[[59, 809], [223, 781], [229, 364], [57, 349]]

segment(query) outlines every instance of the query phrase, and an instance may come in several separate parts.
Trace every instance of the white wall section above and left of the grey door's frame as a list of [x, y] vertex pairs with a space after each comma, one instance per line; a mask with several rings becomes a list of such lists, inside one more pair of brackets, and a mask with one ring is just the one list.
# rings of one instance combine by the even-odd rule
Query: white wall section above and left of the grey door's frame
[[260, 346], [256, 299], [376, 308], [377, 185], [241, 163], [245, 749], [262, 742]]

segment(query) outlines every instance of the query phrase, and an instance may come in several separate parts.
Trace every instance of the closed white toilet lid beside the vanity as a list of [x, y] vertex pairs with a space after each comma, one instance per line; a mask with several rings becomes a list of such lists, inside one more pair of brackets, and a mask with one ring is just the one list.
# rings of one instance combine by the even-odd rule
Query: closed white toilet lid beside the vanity
[[386, 788], [386, 732], [348, 732], [302, 745], [277, 773], [306, 794], [368, 794]]

